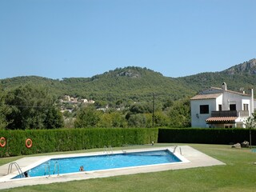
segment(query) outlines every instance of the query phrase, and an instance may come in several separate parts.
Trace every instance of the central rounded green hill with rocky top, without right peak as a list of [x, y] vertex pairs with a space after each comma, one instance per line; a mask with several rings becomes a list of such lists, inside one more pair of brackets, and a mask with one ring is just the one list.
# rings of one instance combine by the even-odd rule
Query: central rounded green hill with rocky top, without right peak
[[110, 70], [92, 78], [63, 78], [54, 80], [35, 76], [2, 79], [4, 90], [30, 83], [46, 86], [57, 97], [65, 94], [105, 101], [114, 104], [117, 101], [149, 101], [153, 93], [163, 101], [177, 100], [196, 93], [190, 85], [178, 78], [167, 78], [158, 72], [140, 67], [126, 67]]

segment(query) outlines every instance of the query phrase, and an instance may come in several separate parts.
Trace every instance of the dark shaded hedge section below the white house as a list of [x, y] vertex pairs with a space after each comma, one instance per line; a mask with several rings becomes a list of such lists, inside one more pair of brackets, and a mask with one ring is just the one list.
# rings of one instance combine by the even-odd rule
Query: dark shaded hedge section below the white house
[[[250, 141], [248, 129], [182, 128], [159, 129], [158, 142], [230, 144]], [[252, 145], [256, 145], [256, 130], [251, 130]]]

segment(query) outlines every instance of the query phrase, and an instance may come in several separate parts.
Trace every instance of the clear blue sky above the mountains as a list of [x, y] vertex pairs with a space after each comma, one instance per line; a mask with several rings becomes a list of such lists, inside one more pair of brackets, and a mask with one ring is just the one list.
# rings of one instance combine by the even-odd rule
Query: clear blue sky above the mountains
[[255, 0], [0, 0], [0, 78], [167, 77], [256, 58]]

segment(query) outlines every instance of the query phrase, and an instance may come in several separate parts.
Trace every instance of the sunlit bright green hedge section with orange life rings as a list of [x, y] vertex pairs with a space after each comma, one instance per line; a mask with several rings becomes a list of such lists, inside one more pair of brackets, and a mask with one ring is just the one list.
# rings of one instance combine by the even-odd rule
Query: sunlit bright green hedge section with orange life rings
[[[54, 151], [85, 150], [103, 146], [142, 145], [158, 141], [158, 129], [61, 129], [61, 130], [0, 130], [6, 146], [0, 157], [39, 154]], [[33, 146], [26, 148], [26, 139]]]

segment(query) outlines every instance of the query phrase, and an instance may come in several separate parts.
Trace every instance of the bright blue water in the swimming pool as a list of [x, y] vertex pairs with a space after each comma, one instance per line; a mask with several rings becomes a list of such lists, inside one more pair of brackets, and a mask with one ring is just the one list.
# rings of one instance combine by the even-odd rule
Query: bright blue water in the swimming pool
[[[169, 150], [156, 150], [147, 152], [94, 155], [75, 158], [52, 158], [28, 171], [30, 177], [58, 174], [56, 162], [59, 166], [59, 174], [79, 172], [80, 166], [84, 170], [108, 170], [130, 166], [148, 166], [170, 162], [181, 162]], [[49, 166], [48, 166], [49, 165]], [[54, 168], [55, 167], [55, 168]], [[16, 177], [19, 178], [19, 177]]]

